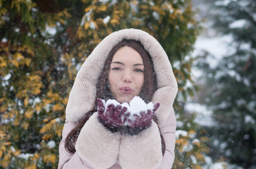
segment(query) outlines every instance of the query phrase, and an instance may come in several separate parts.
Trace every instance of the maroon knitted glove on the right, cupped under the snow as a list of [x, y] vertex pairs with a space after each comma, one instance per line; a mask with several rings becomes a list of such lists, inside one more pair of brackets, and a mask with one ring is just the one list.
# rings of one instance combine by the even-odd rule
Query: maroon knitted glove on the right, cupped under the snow
[[153, 110], [148, 109], [147, 112], [143, 111], [139, 114], [131, 114], [126, 113], [125, 116], [127, 117], [129, 114], [131, 117], [127, 118], [127, 126], [134, 129], [143, 130], [145, 128], [148, 128], [152, 124], [152, 119], [155, 116], [156, 110], [159, 108], [160, 104], [156, 103], [153, 105]]

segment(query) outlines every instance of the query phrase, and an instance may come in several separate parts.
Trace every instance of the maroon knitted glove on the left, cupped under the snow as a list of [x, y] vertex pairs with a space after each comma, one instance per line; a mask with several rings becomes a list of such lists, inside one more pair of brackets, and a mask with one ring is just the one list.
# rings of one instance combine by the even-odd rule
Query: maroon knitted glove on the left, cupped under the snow
[[127, 108], [125, 106], [122, 107], [121, 104], [116, 106], [114, 104], [109, 104], [105, 109], [105, 104], [101, 99], [97, 99], [97, 102], [97, 113], [100, 122], [111, 131], [116, 132], [118, 128], [122, 127], [124, 124], [122, 114], [127, 112]]

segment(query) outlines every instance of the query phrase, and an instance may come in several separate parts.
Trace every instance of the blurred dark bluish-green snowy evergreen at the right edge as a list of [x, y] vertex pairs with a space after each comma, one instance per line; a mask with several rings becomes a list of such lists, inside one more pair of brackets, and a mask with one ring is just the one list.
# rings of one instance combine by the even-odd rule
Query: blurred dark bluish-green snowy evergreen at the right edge
[[201, 62], [206, 73], [206, 104], [216, 125], [209, 129], [212, 157], [230, 163], [256, 166], [256, 2], [210, 1], [214, 27], [231, 35], [230, 52], [215, 68]]

